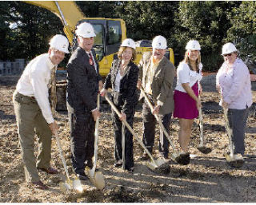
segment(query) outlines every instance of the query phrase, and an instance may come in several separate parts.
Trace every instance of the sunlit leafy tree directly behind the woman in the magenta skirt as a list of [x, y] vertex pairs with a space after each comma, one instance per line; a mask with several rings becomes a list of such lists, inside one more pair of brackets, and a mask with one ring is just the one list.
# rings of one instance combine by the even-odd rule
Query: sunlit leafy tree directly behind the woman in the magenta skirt
[[[179, 2], [176, 14], [175, 53], [184, 56], [186, 42], [196, 39], [202, 46], [204, 69], [217, 70], [222, 64], [222, 41], [230, 28], [227, 15], [241, 2]], [[181, 59], [182, 59], [181, 57]]]

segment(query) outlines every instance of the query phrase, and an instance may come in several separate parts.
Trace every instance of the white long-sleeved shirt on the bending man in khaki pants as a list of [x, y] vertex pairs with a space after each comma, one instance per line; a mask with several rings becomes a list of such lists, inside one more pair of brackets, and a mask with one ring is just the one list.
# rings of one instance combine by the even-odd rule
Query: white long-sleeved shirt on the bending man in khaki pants
[[54, 117], [50, 109], [48, 85], [50, 83], [51, 69], [54, 64], [50, 61], [48, 53], [35, 57], [24, 69], [22, 77], [18, 80], [16, 90], [24, 96], [34, 97], [42, 110], [42, 116], [47, 123], [53, 123]]

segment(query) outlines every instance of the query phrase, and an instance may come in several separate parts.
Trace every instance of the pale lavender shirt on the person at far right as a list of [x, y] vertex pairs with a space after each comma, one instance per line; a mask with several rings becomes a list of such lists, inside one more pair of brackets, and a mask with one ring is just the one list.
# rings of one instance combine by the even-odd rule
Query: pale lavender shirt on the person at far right
[[[220, 86], [222, 97], [228, 108], [245, 109], [253, 103], [250, 73], [244, 62], [237, 58], [234, 64], [228, 67], [226, 62], [218, 70], [216, 85]], [[222, 101], [219, 103], [222, 105]]]

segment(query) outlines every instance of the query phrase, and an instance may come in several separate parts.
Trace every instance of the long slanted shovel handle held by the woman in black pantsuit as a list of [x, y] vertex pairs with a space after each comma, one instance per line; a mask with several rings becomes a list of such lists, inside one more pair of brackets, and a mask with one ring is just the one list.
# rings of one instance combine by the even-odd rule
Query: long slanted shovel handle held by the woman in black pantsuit
[[[118, 114], [118, 116], [122, 116], [121, 112], [119, 112], [118, 108], [116, 108], [114, 106], [114, 103], [112, 101], [110, 101], [110, 98], [107, 97], [107, 95], [105, 95], [106, 101], [110, 104], [111, 108], [114, 109], [114, 112], [116, 112]], [[144, 150], [146, 151], [147, 155], [150, 156], [150, 159], [152, 160], [152, 162], [158, 167], [158, 165], [155, 163], [153, 156], [151, 155], [151, 153], [148, 151], [148, 149], [146, 148], [146, 146], [142, 143], [141, 140], [139, 140], [138, 136], [136, 135], [136, 133], [134, 132], [134, 130], [130, 127], [130, 124], [127, 123], [126, 120], [122, 120], [122, 123], [126, 125], [126, 128], [129, 129], [130, 133], [133, 134], [135, 140], [138, 141], [138, 144], [140, 144], [142, 146], [142, 148], [144, 148]]]

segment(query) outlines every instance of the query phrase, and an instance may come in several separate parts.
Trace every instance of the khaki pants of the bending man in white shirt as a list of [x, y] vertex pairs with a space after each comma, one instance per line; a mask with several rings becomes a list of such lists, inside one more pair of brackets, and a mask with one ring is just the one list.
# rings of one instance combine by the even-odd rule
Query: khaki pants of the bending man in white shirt
[[[26, 97], [15, 91], [13, 101], [26, 181], [36, 182], [40, 180], [37, 168], [50, 167], [52, 134], [33, 97]], [[34, 133], [38, 136], [37, 162], [34, 156]]]

